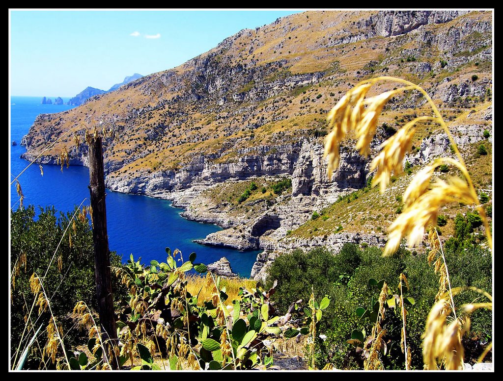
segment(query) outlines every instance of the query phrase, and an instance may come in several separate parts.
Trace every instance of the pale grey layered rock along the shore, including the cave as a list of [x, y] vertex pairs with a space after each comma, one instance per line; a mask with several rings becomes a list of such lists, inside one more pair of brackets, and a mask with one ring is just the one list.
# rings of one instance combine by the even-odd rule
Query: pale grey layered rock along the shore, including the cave
[[[492, 109], [485, 111], [484, 119], [492, 117]], [[483, 124], [463, 124], [451, 127], [456, 143], [460, 146], [484, 139]], [[489, 138], [492, 142], [492, 137]], [[25, 143], [23, 138], [22, 144]], [[378, 146], [381, 142], [374, 142]], [[407, 160], [413, 165], [421, 165], [442, 155], [449, 148], [445, 134], [438, 134], [423, 140], [420, 149]], [[223, 230], [208, 234], [195, 242], [205, 245], [228, 247], [236, 250], [257, 250], [257, 260], [251, 270], [251, 277], [264, 279], [267, 267], [279, 253], [294, 248], [310, 249], [327, 246], [337, 252], [345, 242], [384, 246], [381, 235], [339, 232], [325, 236], [308, 238], [290, 237], [294, 230], [307, 221], [313, 210], [321, 210], [341, 195], [362, 188], [368, 176], [369, 160], [356, 152], [343, 150], [341, 165], [328, 181], [323, 147], [319, 140], [304, 139], [293, 145], [263, 147], [264, 152], [274, 154], [243, 155], [235, 163], [215, 164], [201, 156], [184, 166], [178, 172], [152, 173], [138, 178], [107, 176], [106, 186], [112, 191], [141, 194], [172, 201], [172, 206], [184, 209], [180, 215], [191, 221], [216, 224]], [[23, 154], [30, 159], [29, 152]], [[85, 156], [70, 160], [74, 165], [87, 165]], [[53, 157], [40, 158], [42, 164], [55, 164]], [[271, 164], [272, 163], [272, 164]], [[232, 164], [232, 165], [231, 165]], [[249, 173], [249, 168], [262, 168]], [[292, 181], [292, 193], [278, 197], [272, 206], [265, 200], [257, 200], [247, 205], [256, 208], [253, 215], [229, 214], [221, 204], [205, 196], [205, 191], [229, 182], [239, 183], [254, 179], [275, 179], [288, 177]]]

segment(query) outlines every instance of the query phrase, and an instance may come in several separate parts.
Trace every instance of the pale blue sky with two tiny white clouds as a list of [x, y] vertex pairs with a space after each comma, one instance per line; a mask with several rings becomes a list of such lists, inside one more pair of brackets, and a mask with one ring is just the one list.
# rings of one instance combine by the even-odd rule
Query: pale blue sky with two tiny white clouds
[[176, 67], [244, 28], [300, 11], [10, 12], [11, 95], [74, 96]]

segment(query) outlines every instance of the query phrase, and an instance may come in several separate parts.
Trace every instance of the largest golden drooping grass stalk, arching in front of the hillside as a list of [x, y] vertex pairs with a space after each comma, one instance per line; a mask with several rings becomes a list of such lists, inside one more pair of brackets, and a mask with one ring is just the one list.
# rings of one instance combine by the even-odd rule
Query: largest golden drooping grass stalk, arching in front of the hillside
[[[386, 91], [377, 96], [365, 98], [370, 88], [380, 81], [393, 81], [405, 86]], [[466, 165], [456, 143], [431, 97], [422, 87], [412, 82], [394, 77], [378, 77], [364, 80], [350, 89], [329, 111], [327, 121], [332, 130], [325, 139], [324, 152], [324, 156], [328, 157], [328, 178], [331, 177], [333, 169], [339, 165], [340, 143], [347, 137], [350, 131], [354, 132], [356, 136], [356, 148], [360, 151], [360, 154], [365, 156], [370, 154], [370, 143], [375, 136], [377, 118], [380, 112], [389, 99], [406, 90], [421, 92], [430, 104], [435, 116], [427, 115], [413, 119], [402, 126], [394, 136], [381, 145], [381, 153], [371, 164], [371, 170], [376, 171], [372, 185], [376, 186], [379, 184], [380, 190], [383, 192], [389, 184], [391, 174], [400, 174], [402, 172], [402, 162], [410, 150], [415, 130], [414, 125], [418, 122], [429, 120], [439, 123], [451, 141], [457, 161], [450, 158], [437, 159], [433, 164], [425, 167], [415, 175], [403, 197], [404, 210], [388, 228], [388, 242], [384, 250], [385, 255], [396, 251], [401, 239], [405, 236], [410, 247], [419, 244], [423, 240], [428, 225], [436, 224], [438, 209], [449, 202], [475, 205], [484, 223], [489, 247], [492, 248], [492, 238], [485, 210], [478, 201], [471, 177], [466, 170]], [[434, 170], [439, 165], [445, 163], [456, 166], [463, 174], [465, 180], [451, 177], [447, 183], [437, 180], [431, 184]]]

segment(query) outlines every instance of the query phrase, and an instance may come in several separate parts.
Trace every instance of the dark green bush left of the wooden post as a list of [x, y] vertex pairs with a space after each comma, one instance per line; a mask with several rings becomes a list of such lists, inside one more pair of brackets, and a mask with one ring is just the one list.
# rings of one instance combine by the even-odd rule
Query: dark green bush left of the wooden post
[[[45, 275], [43, 286], [50, 300], [52, 314], [66, 333], [63, 342], [69, 346], [85, 342], [75, 329], [70, 315], [79, 300], [85, 301], [93, 310], [96, 309], [93, 233], [87, 211], [77, 212], [77, 218], [72, 219], [74, 213], [75, 211], [66, 215], [60, 213], [60, 216], [56, 217], [54, 208], [47, 207], [40, 208], [36, 216], [32, 205], [11, 212], [10, 334], [13, 355], [16, 354], [18, 346], [24, 348], [41, 324], [47, 326], [50, 317], [47, 310], [41, 311], [40, 315], [36, 314], [38, 307], [34, 308], [31, 315], [29, 313], [33, 302], [30, 278], [34, 273], [40, 278]], [[66, 234], [63, 234], [67, 226], [69, 228]], [[121, 263], [115, 252], [111, 253], [110, 259], [115, 266]], [[114, 286], [117, 301], [124, 296], [124, 290], [118, 287], [118, 284]], [[25, 326], [28, 330], [23, 335]], [[45, 329], [40, 331], [38, 341], [41, 347], [32, 346], [29, 362], [25, 367], [38, 368], [40, 362], [52, 366], [41, 351], [47, 341]], [[39, 348], [41, 350], [38, 350]]]

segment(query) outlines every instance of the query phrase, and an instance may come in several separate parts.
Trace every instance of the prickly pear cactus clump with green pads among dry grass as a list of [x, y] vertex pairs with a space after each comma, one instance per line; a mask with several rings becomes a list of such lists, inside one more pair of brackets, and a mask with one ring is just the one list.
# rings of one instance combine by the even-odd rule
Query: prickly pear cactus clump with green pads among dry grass
[[[272, 365], [273, 357], [264, 340], [283, 333], [285, 337], [307, 333], [307, 329], [286, 329], [278, 326], [280, 317], [269, 303], [275, 292], [260, 288], [239, 290], [239, 299], [232, 308], [224, 304], [228, 299], [220, 277], [207, 273], [204, 264], [195, 263], [196, 253], [184, 261], [180, 250], [173, 254], [166, 248], [166, 262], [151, 261], [144, 266], [129, 259], [123, 267], [114, 268], [115, 274], [129, 289], [129, 306], [120, 313], [117, 322], [122, 347], [110, 352], [107, 361], [123, 367], [128, 361], [133, 369], [250, 369]], [[177, 262], [182, 262], [178, 266]], [[187, 288], [187, 272], [207, 273], [205, 287], [210, 297], [199, 301]], [[87, 327], [94, 343], [100, 335], [93, 330], [94, 322], [86, 318], [82, 305], [75, 311]], [[100, 350], [103, 343], [95, 346]], [[154, 357], [160, 355], [160, 362]], [[136, 358], [141, 358], [137, 364]], [[72, 361], [75, 366], [76, 362]], [[86, 366], [87, 364], [85, 364]], [[104, 362], [100, 366], [106, 366]]]

